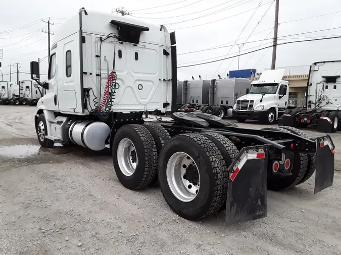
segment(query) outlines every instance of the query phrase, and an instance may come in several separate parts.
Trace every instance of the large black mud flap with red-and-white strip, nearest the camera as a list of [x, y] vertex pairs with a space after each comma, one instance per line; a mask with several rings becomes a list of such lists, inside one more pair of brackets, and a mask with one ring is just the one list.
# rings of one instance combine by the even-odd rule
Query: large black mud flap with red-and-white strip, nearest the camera
[[229, 166], [226, 225], [267, 216], [267, 148], [242, 148]]

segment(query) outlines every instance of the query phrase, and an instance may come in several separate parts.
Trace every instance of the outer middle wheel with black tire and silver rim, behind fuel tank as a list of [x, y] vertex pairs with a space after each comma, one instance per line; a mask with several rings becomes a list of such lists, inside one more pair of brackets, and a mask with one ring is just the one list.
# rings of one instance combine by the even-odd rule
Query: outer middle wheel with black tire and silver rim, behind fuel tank
[[139, 189], [152, 182], [157, 172], [158, 151], [146, 127], [138, 124], [120, 127], [112, 148], [114, 169], [123, 186]]

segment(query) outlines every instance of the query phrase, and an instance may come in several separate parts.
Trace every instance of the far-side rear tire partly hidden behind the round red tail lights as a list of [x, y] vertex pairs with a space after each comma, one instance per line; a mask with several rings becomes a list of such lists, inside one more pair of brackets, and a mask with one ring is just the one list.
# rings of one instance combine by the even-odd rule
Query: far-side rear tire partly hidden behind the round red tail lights
[[[266, 127], [262, 130], [272, 130], [279, 132], [287, 132], [283, 127]], [[281, 190], [288, 187], [292, 187], [297, 185], [305, 176], [307, 172], [308, 166], [308, 157], [307, 154], [303, 153], [294, 153], [294, 163], [293, 169], [291, 169], [292, 175], [289, 176], [281, 176], [278, 174], [272, 173], [272, 168], [268, 164], [268, 179], [267, 179], [267, 188], [269, 190]]]

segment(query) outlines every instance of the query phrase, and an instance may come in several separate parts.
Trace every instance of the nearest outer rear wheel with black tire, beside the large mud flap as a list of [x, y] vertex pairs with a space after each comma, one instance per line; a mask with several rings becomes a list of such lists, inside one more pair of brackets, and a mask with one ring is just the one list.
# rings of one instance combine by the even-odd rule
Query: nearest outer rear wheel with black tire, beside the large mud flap
[[[196, 220], [221, 208], [226, 194], [222, 161], [217, 146], [201, 134], [177, 135], [165, 144], [159, 157], [160, 186], [177, 215]], [[195, 192], [190, 191], [192, 188]]]

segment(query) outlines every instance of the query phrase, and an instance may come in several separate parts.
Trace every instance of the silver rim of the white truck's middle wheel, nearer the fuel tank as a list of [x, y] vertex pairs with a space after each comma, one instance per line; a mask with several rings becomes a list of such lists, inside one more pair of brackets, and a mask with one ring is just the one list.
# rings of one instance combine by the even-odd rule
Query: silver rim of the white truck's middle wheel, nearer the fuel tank
[[117, 161], [121, 172], [126, 176], [131, 176], [138, 164], [138, 158], [134, 144], [123, 138], [117, 147]]

